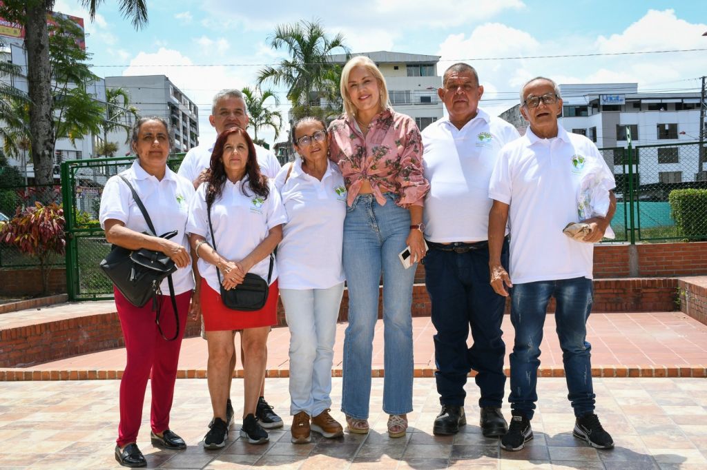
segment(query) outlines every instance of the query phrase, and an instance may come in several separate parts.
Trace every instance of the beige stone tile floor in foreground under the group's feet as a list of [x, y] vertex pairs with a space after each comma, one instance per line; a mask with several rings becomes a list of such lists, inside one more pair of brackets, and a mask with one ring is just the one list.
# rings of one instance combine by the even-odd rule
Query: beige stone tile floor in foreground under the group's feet
[[[520, 452], [499, 449], [477, 425], [478, 390], [467, 385], [469, 423], [463, 432], [438, 438], [431, 434], [438, 395], [430, 378], [414, 381], [414, 409], [406, 438], [390, 439], [387, 416], [380, 411], [382, 379], [373, 379], [367, 436], [350, 435], [308, 445], [293, 445], [288, 428], [288, 380], [268, 379], [266, 395], [285, 419], [284, 430], [270, 433], [267, 445], [238, 440], [240, 420], [229, 445], [206, 451], [201, 440], [211, 418], [206, 380], [177, 380], [170, 428], [187, 440], [187, 450], [168, 452], [149, 442], [150, 390], [138, 444], [151, 467], [172, 469], [707, 469], [707, 380], [696, 378], [597, 378], [597, 413], [614, 436], [614, 450], [595, 450], [571, 435], [573, 414], [562, 378], [538, 381], [535, 438]], [[0, 382], [0, 468], [115, 469], [117, 380]], [[235, 379], [236, 407], [243, 382]], [[341, 402], [341, 380], [335, 378], [335, 418]], [[504, 414], [510, 412], [504, 406]], [[236, 410], [240, 416], [240, 410]]]

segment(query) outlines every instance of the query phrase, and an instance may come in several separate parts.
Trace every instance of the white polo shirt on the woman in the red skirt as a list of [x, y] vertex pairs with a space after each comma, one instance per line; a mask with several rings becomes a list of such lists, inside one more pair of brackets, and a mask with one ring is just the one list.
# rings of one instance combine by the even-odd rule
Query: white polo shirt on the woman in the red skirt
[[[253, 193], [247, 176], [237, 183], [226, 179], [221, 198], [214, 200], [211, 206], [211, 224], [216, 236], [216, 251], [227, 260], [240, 261], [250, 254], [268, 235], [268, 231], [287, 222], [287, 215], [274, 183], [269, 180], [270, 193], [267, 199]], [[209, 231], [209, 219], [206, 215], [206, 183], [201, 183], [197, 194], [189, 206], [187, 233], [203, 236], [209, 245], [214, 246]], [[245, 186], [245, 194], [241, 190]], [[257, 263], [249, 272], [267, 280], [270, 257]], [[211, 289], [219, 292], [216, 266], [199, 258], [199, 274], [206, 279]], [[223, 280], [223, 277], [221, 278]], [[277, 279], [277, 263], [274, 264], [270, 284]]]

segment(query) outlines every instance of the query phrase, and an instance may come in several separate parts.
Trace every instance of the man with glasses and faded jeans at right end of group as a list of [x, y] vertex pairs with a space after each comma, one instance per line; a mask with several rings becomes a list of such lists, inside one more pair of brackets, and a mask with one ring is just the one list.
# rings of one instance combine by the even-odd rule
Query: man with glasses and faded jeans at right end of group
[[[562, 231], [568, 222], [580, 222], [583, 174], [598, 165], [609, 181], [614, 176], [591, 140], [559, 126], [562, 99], [554, 81], [530, 80], [521, 89], [520, 103], [520, 114], [530, 127], [525, 136], [503, 147], [489, 185], [491, 285], [503, 296], [510, 290], [510, 320], [515, 329], [508, 397], [513, 418], [501, 447], [520, 450], [532, 439], [539, 347], [547, 304], [554, 297], [568, 399], [576, 418], [573, 435], [597, 449], [610, 449], [614, 441], [594, 413], [591, 345], [586, 336], [592, 310], [593, 243], [602, 239], [614, 216], [614, 193], [609, 191], [606, 217], [584, 221], [591, 231], [583, 240], [571, 239]], [[509, 215], [510, 277], [501, 262]]]

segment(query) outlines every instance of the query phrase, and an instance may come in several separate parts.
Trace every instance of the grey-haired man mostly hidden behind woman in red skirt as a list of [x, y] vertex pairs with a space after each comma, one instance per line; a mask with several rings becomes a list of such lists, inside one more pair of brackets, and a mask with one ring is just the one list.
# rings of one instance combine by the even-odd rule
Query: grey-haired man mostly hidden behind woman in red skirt
[[[243, 99], [243, 92], [240, 90], [221, 90], [214, 96], [213, 105], [211, 107], [211, 116], [209, 116], [209, 123], [211, 126], [216, 128], [216, 136], [222, 133], [226, 129], [239, 127], [242, 129], [248, 126], [248, 109], [245, 105], [245, 100]], [[192, 148], [187, 152], [182, 164], [177, 171], [177, 174], [184, 176], [189, 181], [194, 183], [194, 188], [198, 188], [199, 185], [206, 181], [206, 170], [209, 169], [211, 164], [211, 152], [214, 151], [214, 142], [210, 144], [201, 144], [197, 147]], [[280, 171], [280, 162], [275, 157], [274, 153], [267, 150], [259, 145], [255, 145], [255, 153], [257, 156], [258, 164], [260, 166], [260, 171], [262, 174], [268, 178], [274, 179], [275, 176]], [[234, 334], [235, 338], [235, 334]], [[231, 368], [235, 368], [236, 354], [233, 352], [233, 357], [231, 357]], [[241, 350], [241, 360], [243, 360], [243, 350]], [[228, 382], [228, 392], [230, 396], [230, 382]], [[264, 399], [265, 382], [263, 381], [262, 388], [260, 389], [260, 398], [258, 400], [258, 405], [256, 409], [255, 416], [260, 421], [260, 426], [263, 428], [279, 428], [282, 426], [282, 418], [277, 416], [273, 411], [272, 406], [270, 406]], [[227, 402], [228, 409], [226, 410], [226, 418], [228, 424], [230, 425], [231, 419], [233, 418], [233, 406], [231, 405], [230, 398]]]

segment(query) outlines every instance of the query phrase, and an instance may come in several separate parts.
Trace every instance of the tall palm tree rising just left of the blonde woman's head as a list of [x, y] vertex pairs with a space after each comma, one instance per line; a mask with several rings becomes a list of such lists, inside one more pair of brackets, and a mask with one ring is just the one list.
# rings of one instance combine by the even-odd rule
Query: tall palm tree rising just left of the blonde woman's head
[[329, 87], [325, 76], [334, 67], [329, 55], [337, 48], [349, 54], [344, 36], [338, 33], [329, 39], [320, 20], [300, 20], [299, 23], [278, 25], [269, 42], [273, 49], [286, 48], [290, 58], [283, 59], [277, 67], [267, 66], [259, 71], [258, 85], [266, 81], [285, 85], [291, 104], [303, 107], [308, 114], [312, 108], [310, 99]]

